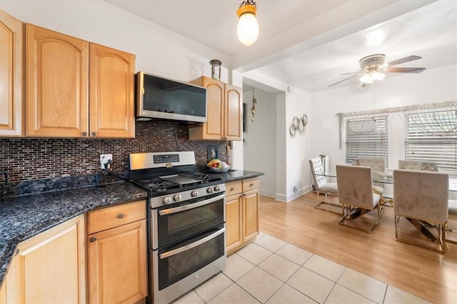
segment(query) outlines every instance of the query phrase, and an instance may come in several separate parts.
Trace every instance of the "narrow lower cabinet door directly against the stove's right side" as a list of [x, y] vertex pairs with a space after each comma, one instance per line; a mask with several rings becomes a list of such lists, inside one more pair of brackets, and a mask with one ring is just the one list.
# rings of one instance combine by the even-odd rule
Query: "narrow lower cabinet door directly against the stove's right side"
[[227, 255], [235, 252], [243, 243], [241, 195], [226, 198], [226, 248]]

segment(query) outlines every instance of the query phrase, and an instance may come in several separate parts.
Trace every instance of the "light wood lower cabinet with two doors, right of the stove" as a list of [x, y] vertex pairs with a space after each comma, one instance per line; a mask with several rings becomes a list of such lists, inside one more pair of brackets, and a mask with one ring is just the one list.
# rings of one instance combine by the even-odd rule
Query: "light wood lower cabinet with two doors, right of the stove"
[[226, 183], [227, 255], [251, 243], [259, 232], [258, 178]]

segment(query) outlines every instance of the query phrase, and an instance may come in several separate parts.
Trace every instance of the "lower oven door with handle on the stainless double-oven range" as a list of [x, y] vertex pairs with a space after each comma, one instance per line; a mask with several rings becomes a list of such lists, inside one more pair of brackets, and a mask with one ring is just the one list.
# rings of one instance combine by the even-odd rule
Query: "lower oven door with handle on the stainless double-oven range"
[[216, 233], [218, 230], [221, 230], [221, 228], [224, 228], [224, 226], [218, 226], [196, 238], [179, 243], [178, 245], [167, 246], [167, 248], [157, 250], [154, 254], [159, 254], [159, 290], [167, 288], [169, 285], [178, 282], [182, 278], [195, 273], [224, 256], [225, 233], [221, 233], [201, 245], [197, 245], [194, 248], [177, 253], [176, 255], [171, 255], [168, 258], [160, 258], [160, 254], [167, 254], [171, 250], [176, 250], [176, 248], [182, 248], [185, 245], [192, 244]]

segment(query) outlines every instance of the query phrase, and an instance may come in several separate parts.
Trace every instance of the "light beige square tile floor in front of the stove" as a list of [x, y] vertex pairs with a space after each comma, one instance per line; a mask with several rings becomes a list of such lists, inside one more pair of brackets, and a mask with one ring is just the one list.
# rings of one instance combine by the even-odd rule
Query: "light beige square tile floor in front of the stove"
[[428, 302], [261, 233], [254, 243], [227, 258], [225, 270], [174, 303]]

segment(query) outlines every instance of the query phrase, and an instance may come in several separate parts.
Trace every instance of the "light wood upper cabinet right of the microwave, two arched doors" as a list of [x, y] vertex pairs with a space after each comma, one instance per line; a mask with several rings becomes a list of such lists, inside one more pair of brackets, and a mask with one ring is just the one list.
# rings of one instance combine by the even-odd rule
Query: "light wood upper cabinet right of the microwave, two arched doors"
[[208, 96], [208, 121], [189, 127], [189, 140], [241, 140], [241, 88], [201, 76], [191, 81], [204, 86]]

